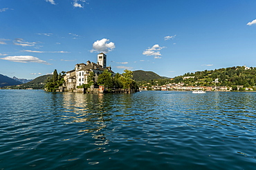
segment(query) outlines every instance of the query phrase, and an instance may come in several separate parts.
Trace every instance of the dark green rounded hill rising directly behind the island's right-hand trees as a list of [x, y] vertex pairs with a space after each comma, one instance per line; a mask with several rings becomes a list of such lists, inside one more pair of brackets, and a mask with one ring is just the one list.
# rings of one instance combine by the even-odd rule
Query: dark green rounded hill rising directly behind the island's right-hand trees
[[134, 71], [135, 81], [150, 81], [150, 80], [161, 79], [161, 78], [167, 78], [167, 77], [159, 76], [154, 72], [145, 72], [143, 70]]

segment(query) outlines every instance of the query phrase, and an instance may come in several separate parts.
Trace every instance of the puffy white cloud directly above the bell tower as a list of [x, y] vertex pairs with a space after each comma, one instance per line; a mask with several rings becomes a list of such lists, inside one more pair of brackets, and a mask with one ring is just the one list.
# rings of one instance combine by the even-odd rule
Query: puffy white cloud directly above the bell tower
[[90, 52], [104, 52], [105, 54], [111, 52], [116, 46], [115, 43], [107, 43], [109, 39], [97, 40], [93, 43], [93, 50]]

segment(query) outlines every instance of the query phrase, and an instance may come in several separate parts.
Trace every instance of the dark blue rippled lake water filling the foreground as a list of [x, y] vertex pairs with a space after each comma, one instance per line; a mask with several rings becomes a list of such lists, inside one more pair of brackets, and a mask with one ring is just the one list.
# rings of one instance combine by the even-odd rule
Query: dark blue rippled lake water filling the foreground
[[255, 169], [255, 92], [0, 90], [0, 169]]

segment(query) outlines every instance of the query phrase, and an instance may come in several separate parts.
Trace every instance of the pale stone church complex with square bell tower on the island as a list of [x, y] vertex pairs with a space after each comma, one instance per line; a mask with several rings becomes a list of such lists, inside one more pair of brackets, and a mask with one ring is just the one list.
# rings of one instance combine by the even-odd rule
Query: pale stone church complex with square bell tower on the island
[[87, 61], [86, 64], [80, 63], [75, 65], [75, 70], [71, 70], [66, 72], [66, 76], [64, 76], [65, 80], [65, 89], [73, 90], [77, 89], [77, 86], [83, 84], [89, 84], [88, 77], [90, 72], [94, 73], [95, 81], [98, 81], [98, 76], [102, 74], [104, 70], [111, 71], [111, 67], [106, 67], [107, 65], [107, 55], [104, 53], [100, 53], [97, 55], [98, 62], [93, 63], [91, 61]]

